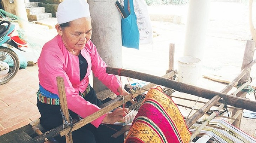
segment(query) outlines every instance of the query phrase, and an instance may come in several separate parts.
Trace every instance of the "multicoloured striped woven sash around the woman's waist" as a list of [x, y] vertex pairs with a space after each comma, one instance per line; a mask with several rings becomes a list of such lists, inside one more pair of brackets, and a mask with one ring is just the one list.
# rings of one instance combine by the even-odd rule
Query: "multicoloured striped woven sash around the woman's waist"
[[[87, 93], [90, 92], [90, 85], [87, 86], [87, 88], [85, 89], [85, 91], [83, 93], [79, 93], [80, 96], [85, 97], [87, 95]], [[38, 90], [36, 92], [37, 95], [37, 99], [45, 104], [50, 104], [50, 105], [60, 105], [60, 99], [59, 98], [50, 98], [50, 97], [46, 97], [44, 94], [42, 94], [40, 92], [40, 90]]]

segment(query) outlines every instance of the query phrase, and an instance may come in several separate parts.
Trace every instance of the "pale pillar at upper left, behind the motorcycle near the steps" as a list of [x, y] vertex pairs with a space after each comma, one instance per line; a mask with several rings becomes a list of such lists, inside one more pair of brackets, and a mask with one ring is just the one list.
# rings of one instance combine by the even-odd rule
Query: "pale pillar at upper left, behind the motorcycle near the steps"
[[20, 28], [24, 30], [28, 23], [28, 16], [26, 12], [25, 2], [24, 0], [14, 0], [14, 6], [15, 6], [16, 15], [20, 18], [18, 19]]

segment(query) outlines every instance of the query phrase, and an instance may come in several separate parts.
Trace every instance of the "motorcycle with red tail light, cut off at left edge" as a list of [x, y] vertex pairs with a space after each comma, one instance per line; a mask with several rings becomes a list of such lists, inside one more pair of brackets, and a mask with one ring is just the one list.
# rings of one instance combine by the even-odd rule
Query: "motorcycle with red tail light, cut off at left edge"
[[[11, 22], [0, 22], [0, 85], [12, 80], [20, 67], [19, 57], [11, 48], [15, 47], [25, 52], [20, 48], [27, 47], [25, 40], [13, 36], [14, 30], [15, 25]], [[7, 44], [8, 47], [2, 46], [3, 44]]]

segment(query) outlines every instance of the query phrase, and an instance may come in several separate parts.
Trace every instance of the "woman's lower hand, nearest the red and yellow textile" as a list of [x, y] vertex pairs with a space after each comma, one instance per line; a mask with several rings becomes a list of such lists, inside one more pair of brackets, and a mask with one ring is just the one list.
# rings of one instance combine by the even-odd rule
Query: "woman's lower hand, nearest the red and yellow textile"
[[123, 110], [123, 108], [118, 107], [115, 111], [107, 113], [102, 122], [113, 124], [116, 121], [124, 121], [124, 116], [129, 113], [128, 110], [128, 108], [124, 108]]

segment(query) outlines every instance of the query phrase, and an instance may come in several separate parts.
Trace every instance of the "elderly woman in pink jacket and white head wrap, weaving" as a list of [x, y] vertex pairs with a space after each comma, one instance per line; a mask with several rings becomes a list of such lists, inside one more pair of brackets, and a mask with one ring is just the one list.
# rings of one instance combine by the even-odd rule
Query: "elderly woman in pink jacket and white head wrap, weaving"
[[[100, 58], [92, 36], [92, 20], [89, 5], [85, 0], [64, 0], [56, 12], [58, 35], [47, 42], [38, 59], [40, 89], [37, 92], [40, 123], [50, 130], [62, 125], [56, 77], [64, 78], [69, 114], [72, 118], [86, 116], [99, 111], [101, 101], [89, 85], [91, 70], [115, 94], [122, 91], [120, 82], [114, 75], [106, 73], [106, 63]], [[128, 92], [123, 90], [123, 95]], [[125, 108], [125, 114], [128, 109]], [[117, 108], [88, 125], [72, 132], [77, 143], [119, 143], [123, 136], [111, 138], [113, 129], [101, 125], [102, 122], [114, 123], [123, 120], [123, 109]], [[65, 142], [65, 137], [55, 137]]]

